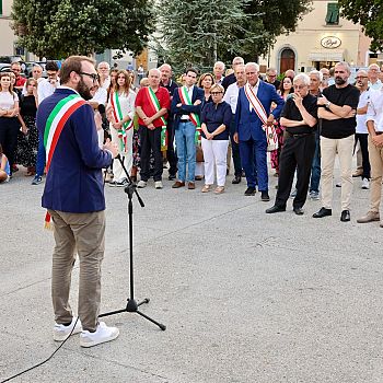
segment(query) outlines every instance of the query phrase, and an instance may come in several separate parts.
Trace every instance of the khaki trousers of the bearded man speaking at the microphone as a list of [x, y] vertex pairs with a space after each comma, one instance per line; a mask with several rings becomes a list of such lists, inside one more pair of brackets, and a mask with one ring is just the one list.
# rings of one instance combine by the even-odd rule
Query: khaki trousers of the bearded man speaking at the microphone
[[101, 263], [104, 257], [105, 213], [69, 213], [48, 210], [55, 223], [56, 246], [53, 255], [51, 299], [55, 321], [72, 321], [69, 304], [71, 272], [76, 252], [80, 262], [79, 316], [82, 328], [94, 332], [97, 327], [101, 302]]

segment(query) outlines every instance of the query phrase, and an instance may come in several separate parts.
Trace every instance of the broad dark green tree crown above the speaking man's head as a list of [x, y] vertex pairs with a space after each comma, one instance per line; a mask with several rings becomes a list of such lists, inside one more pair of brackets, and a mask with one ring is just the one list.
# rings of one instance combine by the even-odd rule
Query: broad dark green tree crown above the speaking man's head
[[151, 0], [14, 0], [19, 44], [39, 57], [105, 49], [140, 53], [152, 33]]

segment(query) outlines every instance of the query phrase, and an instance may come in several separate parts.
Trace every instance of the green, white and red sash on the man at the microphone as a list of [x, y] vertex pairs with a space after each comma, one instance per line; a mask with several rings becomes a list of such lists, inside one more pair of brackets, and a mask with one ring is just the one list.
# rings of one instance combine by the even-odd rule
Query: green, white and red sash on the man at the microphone
[[[44, 130], [44, 148], [46, 152], [46, 171], [48, 173], [57, 142], [68, 118], [86, 102], [79, 94], [62, 98], [50, 112]], [[45, 228], [50, 229], [50, 214], [45, 216]]]

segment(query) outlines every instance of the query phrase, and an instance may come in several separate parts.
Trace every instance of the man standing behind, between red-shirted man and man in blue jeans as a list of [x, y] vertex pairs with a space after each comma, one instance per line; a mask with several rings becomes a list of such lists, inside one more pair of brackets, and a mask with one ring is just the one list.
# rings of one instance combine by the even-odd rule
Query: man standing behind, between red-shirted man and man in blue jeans
[[[169, 63], [163, 63], [159, 68], [161, 72], [160, 85], [167, 89], [171, 102], [173, 98], [174, 91], [178, 88], [177, 83], [172, 80], [172, 67]], [[173, 115], [170, 114], [167, 118], [167, 150], [166, 159], [169, 161], [169, 179], [173, 181], [177, 174], [177, 156], [174, 152], [174, 119]]]

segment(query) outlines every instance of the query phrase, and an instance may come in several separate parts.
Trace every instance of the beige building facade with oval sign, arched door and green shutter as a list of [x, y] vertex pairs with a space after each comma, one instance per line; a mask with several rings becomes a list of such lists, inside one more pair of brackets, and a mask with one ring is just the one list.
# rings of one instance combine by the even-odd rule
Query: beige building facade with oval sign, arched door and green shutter
[[260, 65], [277, 68], [279, 73], [330, 68], [337, 61], [360, 68], [376, 62], [369, 47], [370, 38], [359, 24], [340, 18], [336, 1], [314, 0], [313, 10], [299, 21], [297, 31], [279, 36]]

